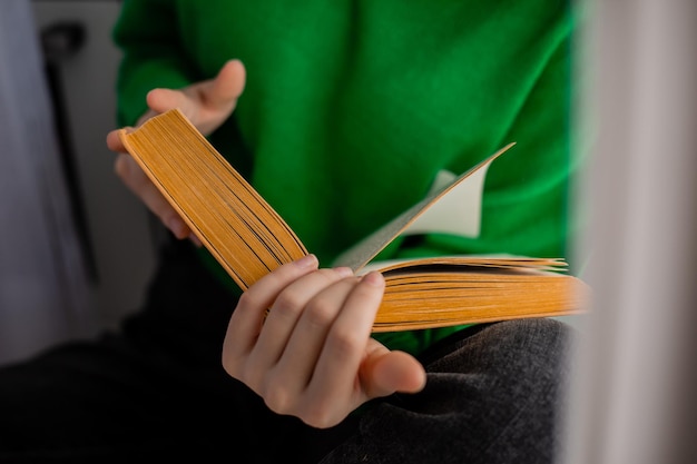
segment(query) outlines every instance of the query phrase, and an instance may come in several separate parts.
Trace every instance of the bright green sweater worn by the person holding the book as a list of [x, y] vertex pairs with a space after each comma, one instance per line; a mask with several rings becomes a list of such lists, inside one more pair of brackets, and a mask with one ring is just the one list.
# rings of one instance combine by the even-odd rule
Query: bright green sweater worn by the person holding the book
[[[238, 58], [245, 91], [210, 140], [322, 265], [420, 200], [440, 170], [510, 141], [487, 177], [479, 237], [428, 234], [381, 257], [567, 256], [571, 23], [569, 3], [551, 0], [126, 0], [119, 124], [141, 116], [148, 90]], [[379, 338], [419, 353], [453, 329]]]

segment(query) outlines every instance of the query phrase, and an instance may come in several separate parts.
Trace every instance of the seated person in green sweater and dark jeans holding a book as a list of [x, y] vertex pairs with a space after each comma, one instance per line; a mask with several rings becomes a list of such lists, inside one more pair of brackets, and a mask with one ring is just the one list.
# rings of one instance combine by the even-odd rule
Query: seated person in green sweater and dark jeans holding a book
[[311, 254], [242, 294], [110, 132], [169, 238], [118, 330], [0, 369], [0, 460], [552, 462], [566, 324], [372, 334], [382, 276], [333, 260], [509, 141], [479, 236], [379, 258], [569, 254], [573, 19], [552, 0], [125, 0], [116, 126], [181, 109]]

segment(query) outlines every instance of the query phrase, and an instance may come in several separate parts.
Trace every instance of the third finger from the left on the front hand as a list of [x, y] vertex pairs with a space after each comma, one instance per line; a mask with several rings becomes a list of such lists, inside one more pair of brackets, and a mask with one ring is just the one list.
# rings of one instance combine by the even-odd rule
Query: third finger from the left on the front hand
[[359, 282], [356, 278], [345, 278], [353, 276], [353, 272], [344, 269], [342, 278], [305, 304], [305, 309], [289, 334], [276, 368], [277, 376], [286, 379], [283, 386], [286, 392], [302, 392], [310, 383], [326, 335]]

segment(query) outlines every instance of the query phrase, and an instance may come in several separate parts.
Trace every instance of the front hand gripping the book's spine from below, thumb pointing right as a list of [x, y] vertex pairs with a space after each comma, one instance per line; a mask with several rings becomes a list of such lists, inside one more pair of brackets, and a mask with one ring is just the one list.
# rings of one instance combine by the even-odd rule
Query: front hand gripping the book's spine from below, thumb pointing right
[[338, 424], [372, 398], [418, 392], [423, 366], [371, 338], [383, 293], [380, 273], [318, 269], [313, 255], [283, 265], [242, 295], [223, 366], [272, 411], [315, 427]]

